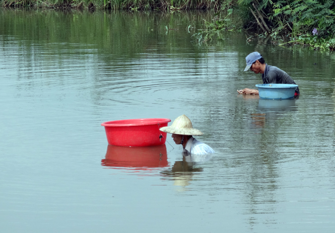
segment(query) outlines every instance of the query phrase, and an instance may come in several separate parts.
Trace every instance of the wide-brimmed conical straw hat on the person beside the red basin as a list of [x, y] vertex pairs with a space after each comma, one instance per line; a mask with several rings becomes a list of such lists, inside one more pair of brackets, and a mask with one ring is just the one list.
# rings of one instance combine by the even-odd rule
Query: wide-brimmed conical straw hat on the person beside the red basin
[[203, 135], [200, 130], [193, 129], [191, 120], [185, 115], [177, 117], [171, 126], [162, 127], [159, 130], [181, 135]]

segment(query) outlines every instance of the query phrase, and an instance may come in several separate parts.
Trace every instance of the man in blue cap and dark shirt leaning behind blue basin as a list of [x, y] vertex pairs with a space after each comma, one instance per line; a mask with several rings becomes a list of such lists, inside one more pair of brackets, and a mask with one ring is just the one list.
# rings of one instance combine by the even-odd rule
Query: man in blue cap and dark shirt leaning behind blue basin
[[[245, 58], [247, 66], [244, 71], [251, 70], [254, 73], [261, 73], [263, 84], [296, 84], [292, 77], [280, 68], [265, 63], [259, 52], [252, 52]], [[237, 90], [239, 94], [258, 95], [258, 90], [245, 88]], [[299, 96], [299, 88], [295, 90], [294, 97]]]

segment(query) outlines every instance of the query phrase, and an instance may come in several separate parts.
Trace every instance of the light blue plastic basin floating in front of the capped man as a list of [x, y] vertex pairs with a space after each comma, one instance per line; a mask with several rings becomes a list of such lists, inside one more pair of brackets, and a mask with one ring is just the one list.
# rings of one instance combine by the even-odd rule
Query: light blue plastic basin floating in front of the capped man
[[257, 84], [259, 98], [271, 100], [293, 99], [298, 85], [295, 84]]

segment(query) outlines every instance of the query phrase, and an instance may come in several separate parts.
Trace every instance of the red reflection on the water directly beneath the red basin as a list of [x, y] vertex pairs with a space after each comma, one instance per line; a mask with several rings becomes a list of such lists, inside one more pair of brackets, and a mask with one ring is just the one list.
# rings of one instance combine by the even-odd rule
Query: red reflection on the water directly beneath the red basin
[[101, 165], [110, 168], [137, 168], [151, 170], [152, 168], [167, 167], [166, 146], [116, 146], [108, 145], [106, 158]]

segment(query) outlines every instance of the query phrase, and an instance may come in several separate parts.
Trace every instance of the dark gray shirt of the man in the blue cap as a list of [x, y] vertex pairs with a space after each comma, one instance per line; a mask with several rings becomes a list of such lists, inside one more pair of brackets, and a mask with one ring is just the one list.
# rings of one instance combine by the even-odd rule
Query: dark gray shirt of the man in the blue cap
[[[265, 64], [262, 80], [263, 84], [296, 84], [287, 72], [268, 64]], [[299, 88], [295, 92], [299, 94]]]

